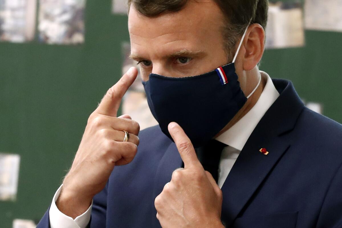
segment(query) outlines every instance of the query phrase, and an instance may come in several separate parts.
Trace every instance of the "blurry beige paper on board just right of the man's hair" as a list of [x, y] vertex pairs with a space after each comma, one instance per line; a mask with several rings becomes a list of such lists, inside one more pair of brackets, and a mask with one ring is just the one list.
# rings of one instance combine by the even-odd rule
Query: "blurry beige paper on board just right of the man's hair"
[[291, 48], [304, 44], [302, 4], [270, 2], [265, 48]]

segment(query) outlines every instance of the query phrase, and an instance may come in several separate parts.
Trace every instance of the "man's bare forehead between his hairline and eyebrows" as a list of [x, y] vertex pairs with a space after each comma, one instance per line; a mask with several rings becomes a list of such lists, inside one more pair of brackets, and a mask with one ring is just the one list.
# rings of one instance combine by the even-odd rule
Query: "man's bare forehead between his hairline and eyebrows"
[[132, 53], [151, 49], [161, 53], [195, 46], [205, 49], [222, 39], [223, 23], [224, 16], [213, 1], [188, 1], [178, 12], [152, 18], [141, 15], [131, 5], [128, 29]]

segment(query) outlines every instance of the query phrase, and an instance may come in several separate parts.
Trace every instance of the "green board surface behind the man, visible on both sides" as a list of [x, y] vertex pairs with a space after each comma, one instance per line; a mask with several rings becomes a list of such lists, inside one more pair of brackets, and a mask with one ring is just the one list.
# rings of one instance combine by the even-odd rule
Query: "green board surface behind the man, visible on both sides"
[[[127, 16], [111, 1], [88, 1], [86, 42], [78, 46], [0, 43], [0, 151], [21, 155], [15, 202], [0, 201], [0, 227], [40, 220], [69, 169], [86, 126], [121, 77]], [[342, 122], [342, 33], [306, 31], [303, 48], [267, 50], [261, 70], [292, 80], [306, 101]]]

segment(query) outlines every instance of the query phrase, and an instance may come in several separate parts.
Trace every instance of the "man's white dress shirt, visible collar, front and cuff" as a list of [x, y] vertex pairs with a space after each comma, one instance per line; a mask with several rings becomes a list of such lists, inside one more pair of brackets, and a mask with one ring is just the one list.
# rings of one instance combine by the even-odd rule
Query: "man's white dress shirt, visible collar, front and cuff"
[[[263, 71], [260, 71], [260, 73], [263, 77], [267, 78], [267, 82], [257, 103], [244, 117], [216, 138], [216, 140], [221, 143], [229, 145], [223, 149], [221, 154], [218, 180], [220, 188], [223, 186], [225, 179], [231, 171], [237, 157], [245, 146], [247, 139], [252, 134], [254, 128], [257, 126], [268, 108], [271, 107], [279, 96], [279, 93], [274, 87], [274, 84], [268, 74]], [[60, 195], [62, 186], [63, 185], [61, 185], [56, 191], [51, 203], [49, 211], [51, 228], [85, 228], [90, 221], [93, 202], [89, 206], [88, 210], [82, 215], [76, 217], [75, 220], [64, 215], [58, 210], [55, 203]]]

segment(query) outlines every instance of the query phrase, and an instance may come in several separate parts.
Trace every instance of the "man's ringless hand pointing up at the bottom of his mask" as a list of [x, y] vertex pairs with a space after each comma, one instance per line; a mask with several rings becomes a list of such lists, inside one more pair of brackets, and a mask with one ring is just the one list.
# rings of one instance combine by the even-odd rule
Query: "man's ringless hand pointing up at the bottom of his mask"
[[169, 132], [184, 162], [155, 199], [157, 218], [163, 228], [224, 227], [221, 223], [222, 192], [198, 161], [195, 149], [175, 122]]

